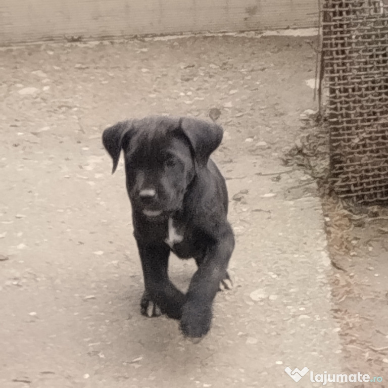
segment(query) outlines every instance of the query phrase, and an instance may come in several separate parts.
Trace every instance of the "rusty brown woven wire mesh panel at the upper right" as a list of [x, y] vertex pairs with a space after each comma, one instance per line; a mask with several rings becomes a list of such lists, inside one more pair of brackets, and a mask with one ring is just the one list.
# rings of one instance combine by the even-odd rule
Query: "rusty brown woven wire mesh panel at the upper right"
[[388, 202], [387, 4], [321, 4], [330, 181], [338, 196], [357, 203]]

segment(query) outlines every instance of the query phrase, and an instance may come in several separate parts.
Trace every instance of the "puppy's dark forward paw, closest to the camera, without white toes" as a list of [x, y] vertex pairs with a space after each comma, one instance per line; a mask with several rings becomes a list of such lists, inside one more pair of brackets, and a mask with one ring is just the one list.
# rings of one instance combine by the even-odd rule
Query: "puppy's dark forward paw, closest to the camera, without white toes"
[[199, 307], [194, 303], [183, 306], [180, 330], [192, 343], [198, 344], [210, 330], [212, 322], [211, 307]]

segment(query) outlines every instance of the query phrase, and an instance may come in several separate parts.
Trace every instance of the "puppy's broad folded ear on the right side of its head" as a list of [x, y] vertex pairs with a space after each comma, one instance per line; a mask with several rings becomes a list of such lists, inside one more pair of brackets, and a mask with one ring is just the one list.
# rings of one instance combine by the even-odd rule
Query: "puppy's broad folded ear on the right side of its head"
[[220, 145], [222, 128], [215, 123], [204, 120], [182, 117], [180, 128], [191, 143], [200, 166], [206, 166], [210, 154]]

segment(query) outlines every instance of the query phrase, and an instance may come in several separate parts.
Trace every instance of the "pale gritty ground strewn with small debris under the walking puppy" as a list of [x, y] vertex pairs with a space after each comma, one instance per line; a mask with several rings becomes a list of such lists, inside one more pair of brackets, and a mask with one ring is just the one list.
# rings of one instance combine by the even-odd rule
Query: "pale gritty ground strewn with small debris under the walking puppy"
[[[1, 54], [2, 388], [285, 387], [295, 384], [285, 366], [341, 372], [315, 183], [280, 161], [301, 113], [315, 107], [308, 38], [39, 44]], [[122, 162], [111, 176], [101, 133], [126, 117], [206, 117], [210, 108], [225, 129], [215, 159], [231, 199], [235, 288], [217, 297], [212, 331], [195, 346], [176, 322], [139, 314]], [[193, 270], [172, 260], [183, 289]]]

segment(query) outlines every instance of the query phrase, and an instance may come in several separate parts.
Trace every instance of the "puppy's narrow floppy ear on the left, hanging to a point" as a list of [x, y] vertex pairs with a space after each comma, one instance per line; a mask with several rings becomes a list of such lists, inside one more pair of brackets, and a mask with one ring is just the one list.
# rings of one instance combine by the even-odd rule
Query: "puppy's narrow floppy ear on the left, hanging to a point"
[[124, 137], [131, 129], [131, 121], [121, 121], [103, 132], [104, 147], [113, 159], [112, 174], [116, 171], [117, 164], [119, 163]]

